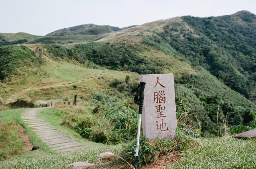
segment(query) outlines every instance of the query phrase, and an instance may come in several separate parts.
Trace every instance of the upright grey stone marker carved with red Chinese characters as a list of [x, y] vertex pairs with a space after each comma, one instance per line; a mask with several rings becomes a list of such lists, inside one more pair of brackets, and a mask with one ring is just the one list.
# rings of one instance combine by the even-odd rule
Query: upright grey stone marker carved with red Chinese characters
[[176, 137], [176, 106], [173, 74], [140, 75], [146, 83], [142, 126], [144, 139], [155, 141]]

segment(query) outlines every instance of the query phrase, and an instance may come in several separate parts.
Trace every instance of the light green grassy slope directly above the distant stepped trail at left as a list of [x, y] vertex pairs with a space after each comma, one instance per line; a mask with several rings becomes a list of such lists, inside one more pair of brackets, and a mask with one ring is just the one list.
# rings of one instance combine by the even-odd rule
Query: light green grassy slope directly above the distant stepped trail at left
[[[36, 69], [23, 67], [22, 70], [18, 70], [18, 72], [20, 72], [19, 78], [17, 76], [13, 76], [6, 85], [2, 84], [4, 89], [4, 91], [2, 91], [2, 97], [4, 100], [7, 100], [11, 95], [18, 91], [30, 89], [29, 91], [21, 92], [16, 98], [24, 97], [31, 92], [31, 90], [38, 90], [43, 86], [49, 87], [56, 84], [69, 83], [76, 80], [90, 78], [91, 76], [101, 73], [100, 70], [87, 69], [65, 61], [55, 62], [55, 66], [57, 67], [56, 70], [53, 66], [53, 62], [46, 61], [46, 65]], [[53, 71], [58, 76], [56, 76]]]

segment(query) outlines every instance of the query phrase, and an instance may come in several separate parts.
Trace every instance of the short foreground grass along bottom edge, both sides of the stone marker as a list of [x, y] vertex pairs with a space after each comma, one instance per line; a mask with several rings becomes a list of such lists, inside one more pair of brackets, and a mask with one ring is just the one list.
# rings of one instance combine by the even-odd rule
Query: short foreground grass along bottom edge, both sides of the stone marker
[[[255, 140], [232, 139], [229, 136], [213, 139], [193, 139], [192, 148], [186, 148], [180, 153], [181, 159], [168, 164], [165, 169], [216, 169], [216, 168], [255, 168], [256, 144]], [[51, 157], [19, 159], [0, 162], [2, 169], [16, 168], [49, 168], [62, 169], [66, 165], [88, 160], [89, 163], [98, 163], [100, 153], [110, 151], [119, 154], [121, 145], [107, 146], [106, 148], [79, 150], [77, 152], [56, 154]], [[122, 156], [121, 156], [122, 157]], [[149, 166], [150, 167], [150, 166]], [[95, 168], [100, 168], [97, 166]], [[112, 168], [112, 167], [106, 167]]]

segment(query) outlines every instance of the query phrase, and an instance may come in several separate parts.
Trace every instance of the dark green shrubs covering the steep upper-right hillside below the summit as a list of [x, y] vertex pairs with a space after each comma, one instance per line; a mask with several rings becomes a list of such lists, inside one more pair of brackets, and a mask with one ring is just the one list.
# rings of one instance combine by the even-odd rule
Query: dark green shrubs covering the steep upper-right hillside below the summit
[[249, 98], [256, 84], [256, 16], [242, 11], [234, 16], [182, 19], [195, 31], [173, 23], [159, 35], [192, 66], [202, 66]]

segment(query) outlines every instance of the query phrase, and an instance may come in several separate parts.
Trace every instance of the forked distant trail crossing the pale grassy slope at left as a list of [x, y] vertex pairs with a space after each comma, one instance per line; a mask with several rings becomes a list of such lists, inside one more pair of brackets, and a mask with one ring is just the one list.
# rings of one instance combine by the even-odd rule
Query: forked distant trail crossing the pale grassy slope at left
[[[48, 60], [48, 61], [50, 61], [50, 62], [53, 62], [53, 66], [55, 67], [55, 69], [54, 69], [54, 71], [53, 71], [53, 73], [57, 76], [57, 78], [59, 77], [56, 73], [55, 73], [55, 71], [57, 70], [57, 67], [55, 66], [55, 62], [54, 61], [52, 61], [52, 60], [50, 60], [50, 58], [48, 58], [47, 56], [45, 56], [44, 54], [42, 54], [42, 56], [43, 56], [43, 58], [45, 58], [46, 60]], [[94, 76], [91, 76], [91, 77], [87, 77], [87, 78], [83, 78], [83, 79], [77, 79], [77, 80], [73, 80], [73, 81], [66, 81], [66, 82], [57, 82], [57, 83], [54, 83], [54, 84], [50, 84], [50, 85], [44, 85], [44, 86], [39, 86], [39, 88], [37, 88], [37, 89], [46, 89], [46, 88], [54, 88], [54, 87], [60, 87], [60, 86], [64, 86], [64, 85], [72, 85], [73, 83], [79, 83], [79, 82], [82, 82], [82, 81], [87, 81], [87, 80], [90, 80], [90, 79], [92, 79], [92, 78], [94, 78], [94, 77], [99, 77], [99, 76], [101, 76], [101, 75], [105, 75], [106, 74], [106, 72], [104, 71], [104, 70], [101, 70], [101, 69], [95, 69], [95, 70], [99, 70], [99, 71], [102, 71], [102, 73], [101, 74], [96, 74], [96, 75], [94, 75]], [[31, 90], [31, 88], [33, 88], [33, 87], [35, 87], [35, 86], [38, 86], [38, 85], [40, 85], [40, 84], [44, 84], [44, 83], [46, 83], [47, 81], [50, 81], [50, 80], [52, 80], [52, 79], [54, 79], [54, 78], [49, 78], [49, 79], [47, 79], [47, 80], [45, 80], [45, 81], [43, 81], [43, 82], [38, 82], [38, 83], [36, 83], [36, 84], [34, 84], [34, 85], [32, 85], [32, 86], [30, 86], [28, 89], [24, 89], [24, 90], [21, 90], [21, 91], [18, 91], [18, 92], [16, 92], [14, 95], [11, 95], [10, 97], [9, 97], [9, 99], [7, 99], [7, 101], [6, 101], [6, 103], [10, 103], [16, 96], [22, 96], [23, 94], [25, 94], [27, 91], [29, 91], [29, 90]]]

